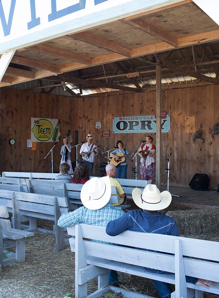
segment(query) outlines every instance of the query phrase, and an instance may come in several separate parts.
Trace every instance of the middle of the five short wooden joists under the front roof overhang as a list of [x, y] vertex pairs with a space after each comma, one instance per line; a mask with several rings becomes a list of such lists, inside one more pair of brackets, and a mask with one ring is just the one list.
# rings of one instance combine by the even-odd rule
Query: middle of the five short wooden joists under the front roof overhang
[[29, 47], [28, 49], [33, 50], [33, 51], [37, 51], [40, 53], [44, 53], [44, 54], [48, 54], [48, 55], [52, 55], [52, 56], [56, 56], [59, 58], [64, 58], [64, 59], [68, 59], [70, 61], [75, 61], [75, 62], [79, 62], [79, 63], [83, 63], [83, 64], [87, 64], [87, 65], [91, 65], [92, 64], [92, 59], [86, 56], [82, 56], [79, 54], [75, 54], [69, 51], [65, 51], [65, 50], [61, 50], [52, 46], [48, 46], [48, 45], [34, 45]]

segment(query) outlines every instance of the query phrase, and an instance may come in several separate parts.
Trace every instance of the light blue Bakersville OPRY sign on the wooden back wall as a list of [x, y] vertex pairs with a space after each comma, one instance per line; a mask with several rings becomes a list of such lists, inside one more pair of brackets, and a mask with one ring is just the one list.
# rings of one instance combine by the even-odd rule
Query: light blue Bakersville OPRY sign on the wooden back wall
[[[155, 116], [113, 118], [113, 133], [156, 132]], [[161, 132], [170, 132], [170, 115], [161, 119]]]

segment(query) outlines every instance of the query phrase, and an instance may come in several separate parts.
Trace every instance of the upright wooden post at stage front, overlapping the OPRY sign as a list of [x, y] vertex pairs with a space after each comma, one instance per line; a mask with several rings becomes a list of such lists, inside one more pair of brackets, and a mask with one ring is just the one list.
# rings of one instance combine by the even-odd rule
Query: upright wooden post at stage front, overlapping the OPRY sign
[[160, 189], [161, 168], [161, 66], [156, 65], [156, 186]]

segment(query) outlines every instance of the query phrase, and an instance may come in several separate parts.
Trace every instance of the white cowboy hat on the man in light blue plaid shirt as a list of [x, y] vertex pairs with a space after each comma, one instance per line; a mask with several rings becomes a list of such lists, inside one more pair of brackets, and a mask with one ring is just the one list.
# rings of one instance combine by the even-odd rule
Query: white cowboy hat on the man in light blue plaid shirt
[[90, 210], [104, 207], [111, 197], [111, 184], [109, 176], [91, 178], [81, 189], [81, 202]]

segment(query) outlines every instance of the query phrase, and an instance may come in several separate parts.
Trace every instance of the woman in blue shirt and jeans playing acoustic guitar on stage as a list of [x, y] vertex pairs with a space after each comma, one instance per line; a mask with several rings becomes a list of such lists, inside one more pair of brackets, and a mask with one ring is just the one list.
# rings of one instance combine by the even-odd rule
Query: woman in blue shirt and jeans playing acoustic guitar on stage
[[[115, 149], [113, 152], [110, 153], [110, 156], [115, 157], [116, 161], [119, 161], [120, 157], [118, 156], [119, 153], [122, 153], [123, 155], [129, 154], [127, 149], [123, 148], [123, 142], [121, 140], [116, 142], [116, 147], [119, 147], [118, 149]], [[116, 166], [116, 178], [122, 178], [127, 179], [127, 157], [125, 157], [124, 162], [118, 163]]]

